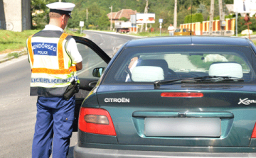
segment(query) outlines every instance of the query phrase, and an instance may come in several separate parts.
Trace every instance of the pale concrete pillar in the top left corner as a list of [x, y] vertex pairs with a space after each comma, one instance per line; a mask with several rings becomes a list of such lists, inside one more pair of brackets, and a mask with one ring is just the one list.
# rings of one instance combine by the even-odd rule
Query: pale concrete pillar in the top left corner
[[21, 32], [31, 29], [30, 0], [0, 0], [0, 29]]

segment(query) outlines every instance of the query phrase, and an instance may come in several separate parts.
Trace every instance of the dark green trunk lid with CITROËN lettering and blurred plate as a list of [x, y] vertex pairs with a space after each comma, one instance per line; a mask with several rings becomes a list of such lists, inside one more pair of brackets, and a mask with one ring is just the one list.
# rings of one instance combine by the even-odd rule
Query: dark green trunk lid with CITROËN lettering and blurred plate
[[[119, 144], [247, 147], [256, 94], [245, 89], [98, 91], [97, 97], [112, 117]], [[161, 96], [195, 92], [203, 96]]]

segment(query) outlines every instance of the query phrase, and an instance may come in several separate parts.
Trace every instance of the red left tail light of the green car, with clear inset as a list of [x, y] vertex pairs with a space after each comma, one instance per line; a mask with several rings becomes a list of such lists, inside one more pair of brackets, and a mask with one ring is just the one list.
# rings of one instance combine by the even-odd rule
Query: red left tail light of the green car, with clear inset
[[102, 108], [81, 108], [78, 128], [93, 134], [117, 135], [110, 113]]

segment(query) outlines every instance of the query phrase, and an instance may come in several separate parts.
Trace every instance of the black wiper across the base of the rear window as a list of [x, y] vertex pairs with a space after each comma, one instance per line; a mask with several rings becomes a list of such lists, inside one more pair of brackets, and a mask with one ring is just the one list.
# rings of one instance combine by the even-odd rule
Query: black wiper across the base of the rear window
[[204, 76], [193, 77], [187, 79], [173, 79], [169, 81], [154, 81], [154, 88], [158, 89], [162, 84], [170, 84], [175, 81], [181, 81], [181, 83], [198, 83], [203, 81], [218, 82], [218, 81], [244, 81], [243, 79], [236, 77], [219, 77], [219, 76]]

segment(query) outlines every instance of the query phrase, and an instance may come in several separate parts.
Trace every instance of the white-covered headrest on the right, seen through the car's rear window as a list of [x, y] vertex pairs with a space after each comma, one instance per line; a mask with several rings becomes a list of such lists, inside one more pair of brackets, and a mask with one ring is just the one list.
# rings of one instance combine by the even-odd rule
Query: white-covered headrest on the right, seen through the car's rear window
[[242, 78], [242, 66], [237, 62], [213, 62], [210, 64], [209, 76]]

